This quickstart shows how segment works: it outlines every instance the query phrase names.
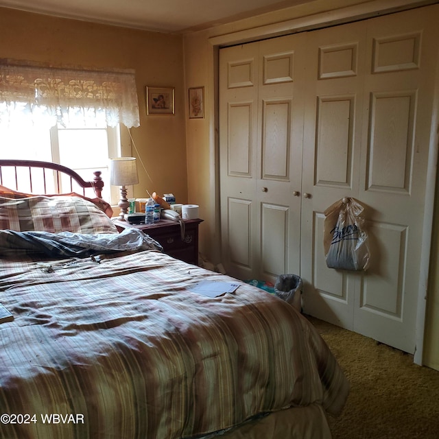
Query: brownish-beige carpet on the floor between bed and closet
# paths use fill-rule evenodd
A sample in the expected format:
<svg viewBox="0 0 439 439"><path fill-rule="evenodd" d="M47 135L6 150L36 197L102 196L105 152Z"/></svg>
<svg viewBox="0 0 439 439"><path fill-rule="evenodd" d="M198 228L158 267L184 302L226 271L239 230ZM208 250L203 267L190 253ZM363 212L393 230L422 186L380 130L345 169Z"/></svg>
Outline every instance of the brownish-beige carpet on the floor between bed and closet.
<svg viewBox="0 0 439 439"><path fill-rule="evenodd" d="M351 383L342 414L329 418L333 439L439 438L438 371L368 337L309 320Z"/></svg>

